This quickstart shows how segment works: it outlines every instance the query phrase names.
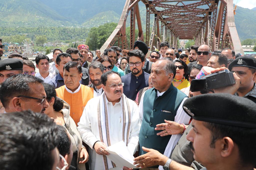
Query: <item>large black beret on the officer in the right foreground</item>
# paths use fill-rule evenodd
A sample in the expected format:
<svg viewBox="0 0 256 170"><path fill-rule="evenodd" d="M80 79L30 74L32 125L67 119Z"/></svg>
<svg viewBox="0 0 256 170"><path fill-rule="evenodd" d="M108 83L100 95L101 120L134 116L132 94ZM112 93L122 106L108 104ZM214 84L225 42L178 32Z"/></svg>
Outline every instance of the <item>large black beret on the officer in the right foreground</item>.
<svg viewBox="0 0 256 170"><path fill-rule="evenodd" d="M203 94L188 98L184 111L198 121L256 128L256 104L227 93Z"/></svg>

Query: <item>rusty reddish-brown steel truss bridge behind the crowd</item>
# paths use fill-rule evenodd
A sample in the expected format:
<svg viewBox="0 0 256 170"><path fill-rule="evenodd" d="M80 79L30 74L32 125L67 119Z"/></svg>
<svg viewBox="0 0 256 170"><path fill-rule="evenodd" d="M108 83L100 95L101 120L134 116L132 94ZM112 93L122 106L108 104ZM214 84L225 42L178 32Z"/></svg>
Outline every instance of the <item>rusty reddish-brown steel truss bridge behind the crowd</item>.
<svg viewBox="0 0 256 170"><path fill-rule="evenodd" d="M138 5L140 1L146 7L145 37ZM233 10L233 0L126 0L118 25L100 51L114 44L122 49L133 49L136 40L144 41L151 49L153 46L159 49L161 42L168 41L177 49L178 40L193 39L195 45L207 44L211 51L230 47L236 54L243 54ZM151 14L154 17L150 17ZM127 41L125 28L128 16L130 42ZM150 25L152 19L153 26ZM135 21L138 37L135 37Z"/></svg>

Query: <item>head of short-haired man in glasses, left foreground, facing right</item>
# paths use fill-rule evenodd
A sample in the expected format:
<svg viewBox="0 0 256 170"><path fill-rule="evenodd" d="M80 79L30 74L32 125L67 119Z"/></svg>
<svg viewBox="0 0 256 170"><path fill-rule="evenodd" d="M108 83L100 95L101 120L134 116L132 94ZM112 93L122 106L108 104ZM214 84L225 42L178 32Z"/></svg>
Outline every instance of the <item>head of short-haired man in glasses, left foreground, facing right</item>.
<svg viewBox="0 0 256 170"><path fill-rule="evenodd" d="M28 74L16 74L6 79L0 87L0 99L5 112L32 110L44 113L49 104L45 100L42 83L38 77Z"/></svg>

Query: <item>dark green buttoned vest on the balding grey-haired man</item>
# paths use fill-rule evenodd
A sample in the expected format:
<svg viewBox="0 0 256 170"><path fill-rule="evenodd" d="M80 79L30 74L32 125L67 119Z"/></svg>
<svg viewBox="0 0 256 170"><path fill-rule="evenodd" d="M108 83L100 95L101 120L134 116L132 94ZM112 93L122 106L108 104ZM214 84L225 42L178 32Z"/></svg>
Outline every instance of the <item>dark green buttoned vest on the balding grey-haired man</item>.
<svg viewBox="0 0 256 170"><path fill-rule="evenodd" d="M164 154L164 150L170 140L171 135L156 135L162 130L155 130L157 124L165 123L164 120L174 121L176 112L187 97L182 91L175 88L172 84L162 96L157 97L155 88L148 89L143 98L143 121L139 135L139 154L147 152L142 147L155 149Z"/></svg>

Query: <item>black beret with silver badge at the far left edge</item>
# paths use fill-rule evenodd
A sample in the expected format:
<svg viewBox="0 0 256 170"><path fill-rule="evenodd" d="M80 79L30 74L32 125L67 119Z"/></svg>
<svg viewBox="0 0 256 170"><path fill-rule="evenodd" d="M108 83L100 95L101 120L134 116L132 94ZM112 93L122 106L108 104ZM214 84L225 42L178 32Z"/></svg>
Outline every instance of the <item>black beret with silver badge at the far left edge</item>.
<svg viewBox="0 0 256 170"><path fill-rule="evenodd" d="M0 70L23 70L23 61L17 58L0 60Z"/></svg>

